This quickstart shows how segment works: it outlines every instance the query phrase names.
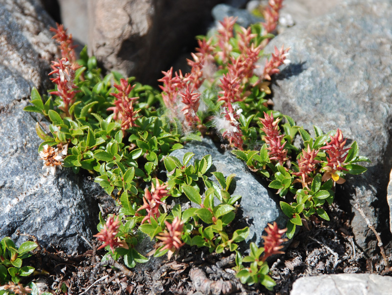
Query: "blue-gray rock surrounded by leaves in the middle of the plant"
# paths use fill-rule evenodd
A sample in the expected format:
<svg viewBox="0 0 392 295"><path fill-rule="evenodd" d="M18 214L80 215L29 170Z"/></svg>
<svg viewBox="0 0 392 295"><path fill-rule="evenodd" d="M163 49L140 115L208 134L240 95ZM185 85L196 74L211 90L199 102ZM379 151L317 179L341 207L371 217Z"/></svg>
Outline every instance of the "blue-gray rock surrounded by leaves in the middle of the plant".
<svg viewBox="0 0 392 295"><path fill-rule="evenodd" d="M249 171L243 161L237 159L230 152L226 151L222 154L210 138L203 138L202 142L191 141L183 149L173 151L170 156L177 157L182 161L187 152L195 153L193 159L201 159L205 155L211 155L213 165L208 170L209 173L219 171L225 177L232 173L236 175L233 181L235 188L232 195L241 195L242 198L240 200L241 207L237 213L240 219L236 217L235 227L249 226L249 236L245 240L246 243L253 241L260 246L261 235L267 223L276 221L280 228L285 227L286 219L276 204L275 195ZM208 172L207 176L209 176ZM217 182L213 175L209 176L209 179Z"/></svg>

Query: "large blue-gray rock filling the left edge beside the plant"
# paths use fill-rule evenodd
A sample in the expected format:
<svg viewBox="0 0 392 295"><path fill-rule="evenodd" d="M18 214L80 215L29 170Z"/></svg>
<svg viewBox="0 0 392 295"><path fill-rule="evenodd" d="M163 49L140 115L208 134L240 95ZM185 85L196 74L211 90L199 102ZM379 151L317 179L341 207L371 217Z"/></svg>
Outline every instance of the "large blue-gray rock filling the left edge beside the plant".
<svg viewBox="0 0 392 295"><path fill-rule="evenodd" d="M57 52L53 25L38 0L0 5L0 239L10 236L20 244L26 240L16 235L20 231L71 253L85 247L80 236L92 238L96 206L70 171L43 176L37 153L42 140L35 133L43 118L23 111L33 86L44 91L50 85Z"/></svg>

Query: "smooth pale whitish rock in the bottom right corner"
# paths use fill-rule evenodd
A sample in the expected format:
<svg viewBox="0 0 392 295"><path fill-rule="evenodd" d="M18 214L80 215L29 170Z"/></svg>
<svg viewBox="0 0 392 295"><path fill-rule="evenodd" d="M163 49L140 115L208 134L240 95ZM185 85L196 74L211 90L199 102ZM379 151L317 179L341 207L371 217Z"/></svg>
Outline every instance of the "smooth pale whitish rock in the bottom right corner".
<svg viewBox="0 0 392 295"><path fill-rule="evenodd" d="M290 295L389 295L392 278L368 273L340 273L297 279Z"/></svg>

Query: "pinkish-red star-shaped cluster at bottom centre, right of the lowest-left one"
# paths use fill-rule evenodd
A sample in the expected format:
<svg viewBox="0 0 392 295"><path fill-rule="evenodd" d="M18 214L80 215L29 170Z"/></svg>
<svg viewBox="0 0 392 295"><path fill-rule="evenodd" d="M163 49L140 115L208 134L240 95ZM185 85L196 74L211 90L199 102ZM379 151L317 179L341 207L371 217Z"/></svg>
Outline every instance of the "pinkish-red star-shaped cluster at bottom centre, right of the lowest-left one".
<svg viewBox="0 0 392 295"><path fill-rule="evenodd" d="M181 248L184 245L184 242L180 240L182 234L182 228L184 227L184 223L175 216L172 224L165 220L166 228L163 233L160 233L156 238L162 241L160 244L163 244L164 247L161 251L168 249L168 259L172 257L172 254Z"/></svg>

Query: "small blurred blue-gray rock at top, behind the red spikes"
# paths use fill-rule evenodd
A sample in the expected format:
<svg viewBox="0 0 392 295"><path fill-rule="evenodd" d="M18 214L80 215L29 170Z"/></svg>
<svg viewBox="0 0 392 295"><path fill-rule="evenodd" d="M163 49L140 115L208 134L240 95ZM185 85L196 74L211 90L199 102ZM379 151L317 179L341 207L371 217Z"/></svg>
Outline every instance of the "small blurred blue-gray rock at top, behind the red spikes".
<svg viewBox="0 0 392 295"><path fill-rule="evenodd" d="M234 8L227 4L218 4L212 9L215 21L223 21L225 17L237 17L237 24L242 27L249 27L250 24L262 22L263 19L252 15L246 9Z"/></svg>

